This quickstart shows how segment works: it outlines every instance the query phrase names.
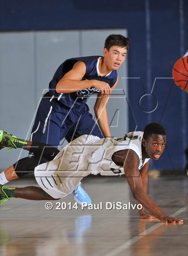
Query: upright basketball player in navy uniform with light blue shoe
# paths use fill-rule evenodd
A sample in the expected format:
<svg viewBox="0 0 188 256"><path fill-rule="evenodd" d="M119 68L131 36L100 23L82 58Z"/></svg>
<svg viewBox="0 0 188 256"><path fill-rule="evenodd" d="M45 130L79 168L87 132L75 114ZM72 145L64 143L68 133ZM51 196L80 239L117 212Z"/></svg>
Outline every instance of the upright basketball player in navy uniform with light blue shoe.
<svg viewBox="0 0 188 256"><path fill-rule="evenodd" d="M30 140L57 147L63 138L70 142L85 134L111 137L106 104L118 83L117 69L124 63L128 43L129 38L110 35L105 40L103 57L65 60L56 70L49 92L41 99ZM98 94L94 112L101 131L86 104L92 94ZM28 173L15 171L18 175L10 180ZM91 202L81 183L73 193L77 202Z"/></svg>

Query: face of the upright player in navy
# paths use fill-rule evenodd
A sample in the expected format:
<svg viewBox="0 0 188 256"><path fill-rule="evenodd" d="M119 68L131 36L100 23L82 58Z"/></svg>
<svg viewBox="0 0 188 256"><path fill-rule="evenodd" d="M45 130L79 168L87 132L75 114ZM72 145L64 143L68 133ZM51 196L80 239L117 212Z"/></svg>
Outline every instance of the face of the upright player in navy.
<svg viewBox="0 0 188 256"><path fill-rule="evenodd" d="M117 70L122 63L124 63L127 49L125 47L121 48L120 46L114 45L109 49L109 51L104 48L103 53L108 68L111 70Z"/></svg>

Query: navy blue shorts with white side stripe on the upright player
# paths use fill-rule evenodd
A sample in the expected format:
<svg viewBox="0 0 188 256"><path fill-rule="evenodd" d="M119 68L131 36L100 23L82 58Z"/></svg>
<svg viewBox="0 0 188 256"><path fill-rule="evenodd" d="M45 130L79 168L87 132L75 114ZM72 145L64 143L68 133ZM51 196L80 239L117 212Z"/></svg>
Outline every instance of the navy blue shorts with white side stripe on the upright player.
<svg viewBox="0 0 188 256"><path fill-rule="evenodd" d="M60 104L60 108L56 107L56 104ZM86 103L80 108L68 108L48 93L44 95L31 131L31 141L57 147L63 138L70 142L85 134L103 138Z"/></svg>

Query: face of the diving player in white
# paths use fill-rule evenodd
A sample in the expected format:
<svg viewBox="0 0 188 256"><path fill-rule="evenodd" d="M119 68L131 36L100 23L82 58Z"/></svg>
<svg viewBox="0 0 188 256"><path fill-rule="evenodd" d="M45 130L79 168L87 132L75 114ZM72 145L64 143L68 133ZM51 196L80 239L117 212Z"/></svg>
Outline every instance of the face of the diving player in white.
<svg viewBox="0 0 188 256"><path fill-rule="evenodd" d="M152 134L148 139L143 139L142 144L148 157L158 160L165 149L166 141L166 135Z"/></svg>

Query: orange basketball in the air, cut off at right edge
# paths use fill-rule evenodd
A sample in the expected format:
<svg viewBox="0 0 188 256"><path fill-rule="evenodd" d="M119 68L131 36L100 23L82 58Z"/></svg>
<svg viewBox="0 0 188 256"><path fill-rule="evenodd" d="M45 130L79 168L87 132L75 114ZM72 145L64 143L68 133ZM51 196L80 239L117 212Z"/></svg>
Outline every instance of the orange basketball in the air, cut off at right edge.
<svg viewBox="0 0 188 256"><path fill-rule="evenodd" d="M172 69L172 76L176 85L188 91L188 56L179 58Z"/></svg>

